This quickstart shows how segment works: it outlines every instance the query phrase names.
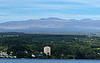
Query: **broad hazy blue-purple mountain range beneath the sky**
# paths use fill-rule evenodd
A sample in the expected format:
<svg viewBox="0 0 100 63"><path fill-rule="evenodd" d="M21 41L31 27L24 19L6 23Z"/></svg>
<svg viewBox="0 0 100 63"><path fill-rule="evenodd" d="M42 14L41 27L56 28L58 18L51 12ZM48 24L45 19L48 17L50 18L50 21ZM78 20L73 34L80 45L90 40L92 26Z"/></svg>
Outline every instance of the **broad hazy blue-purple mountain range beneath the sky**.
<svg viewBox="0 0 100 63"><path fill-rule="evenodd" d="M100 20L41 18L0 23L0 32L66 33L100 32Z"/></svg>

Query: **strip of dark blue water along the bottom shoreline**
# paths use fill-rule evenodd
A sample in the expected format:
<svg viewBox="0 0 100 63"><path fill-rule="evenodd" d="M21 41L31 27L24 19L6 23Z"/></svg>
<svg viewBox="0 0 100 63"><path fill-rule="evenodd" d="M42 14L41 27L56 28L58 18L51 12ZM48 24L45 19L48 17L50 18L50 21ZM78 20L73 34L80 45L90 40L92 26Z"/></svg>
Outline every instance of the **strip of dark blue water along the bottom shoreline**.
<svg viewBox="0 0 100 63"><path fill-rule="evenodd" d="M100 63L100 60L74 59L0 59L0 63Z"/></svg>

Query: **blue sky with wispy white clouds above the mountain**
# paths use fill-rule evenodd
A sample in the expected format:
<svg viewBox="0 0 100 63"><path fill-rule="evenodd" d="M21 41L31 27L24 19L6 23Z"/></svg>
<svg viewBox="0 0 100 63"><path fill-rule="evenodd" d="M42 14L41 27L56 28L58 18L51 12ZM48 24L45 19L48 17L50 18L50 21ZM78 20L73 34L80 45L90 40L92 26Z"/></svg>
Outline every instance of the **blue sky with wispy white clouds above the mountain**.
<svg viewBox="0 0 100 63"><path fill-rule="evenodd" d="M48 17L100 20L100 0L0 0L0 23Z"/></svg>

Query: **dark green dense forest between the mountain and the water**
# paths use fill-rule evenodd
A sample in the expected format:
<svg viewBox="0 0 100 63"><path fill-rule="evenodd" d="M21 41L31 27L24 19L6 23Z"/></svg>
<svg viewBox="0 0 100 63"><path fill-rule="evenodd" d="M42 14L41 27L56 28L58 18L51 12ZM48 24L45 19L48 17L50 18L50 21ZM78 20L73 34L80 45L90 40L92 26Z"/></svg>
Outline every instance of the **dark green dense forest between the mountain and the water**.
<svg viewBox="0 0 100 63"><path fill-rule="evenodd" d="M51 56L43 53L51 47ZM0 51L17 58L100 59L100 37L70 34L0 33ZM41 55L40 55L41 54Z"/></svg>

